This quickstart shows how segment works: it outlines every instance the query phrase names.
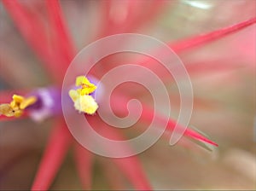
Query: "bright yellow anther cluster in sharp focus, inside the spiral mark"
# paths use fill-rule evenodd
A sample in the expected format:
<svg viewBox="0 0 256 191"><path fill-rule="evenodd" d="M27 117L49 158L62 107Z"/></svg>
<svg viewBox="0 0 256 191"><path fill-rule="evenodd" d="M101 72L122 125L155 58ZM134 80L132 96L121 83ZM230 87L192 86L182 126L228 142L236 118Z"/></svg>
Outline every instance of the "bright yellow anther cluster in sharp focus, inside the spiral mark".
<svg viewBox="0 0 256 191"><path fill-rule="evenodd" d="M96 90L96 85L91 84L84 76L76 78L76 86L81 86L78 90L69 90L68 94L74 102L74 107L80 113L94 114L98 104L91 94Z"/></svg>

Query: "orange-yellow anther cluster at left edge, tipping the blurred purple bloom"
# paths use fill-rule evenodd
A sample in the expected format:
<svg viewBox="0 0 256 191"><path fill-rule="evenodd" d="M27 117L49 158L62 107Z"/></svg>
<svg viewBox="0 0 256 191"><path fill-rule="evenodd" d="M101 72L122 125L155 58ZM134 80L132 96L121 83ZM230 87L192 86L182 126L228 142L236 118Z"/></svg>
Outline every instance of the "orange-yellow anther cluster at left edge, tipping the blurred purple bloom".
<svg viewBox="0 0 256 191"><path fill-rule="evenodd" d="M31 106L36 101L37 98L35 96L25 98L23 96L14 95L13 101L11 101L9 104L4 103L0 105L0 114L5 115L6 117L15 116L18 118L22 115L23 110L26 109L26 107Z"/></svg>

